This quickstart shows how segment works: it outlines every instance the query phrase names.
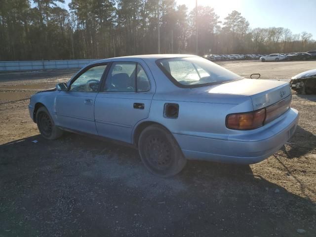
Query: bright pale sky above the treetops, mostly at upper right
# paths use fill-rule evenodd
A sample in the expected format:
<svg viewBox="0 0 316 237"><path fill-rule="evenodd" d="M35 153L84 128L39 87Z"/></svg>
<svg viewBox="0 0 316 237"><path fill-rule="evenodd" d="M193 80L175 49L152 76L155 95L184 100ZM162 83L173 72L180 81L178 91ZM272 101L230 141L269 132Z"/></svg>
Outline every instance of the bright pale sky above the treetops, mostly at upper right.
<svg viewBox="0 0 316 237"><path fill-rule="evenodd" d="M65 0L65 4L60 5L69 9L70 1ZM196 0L176 1L186 4L189 10L196 4ZM213 7L220 20L237 10L249 21L251 28L284 27L293 34L306 31L316 39L316 0L197 0L197 4Z"/></svg>

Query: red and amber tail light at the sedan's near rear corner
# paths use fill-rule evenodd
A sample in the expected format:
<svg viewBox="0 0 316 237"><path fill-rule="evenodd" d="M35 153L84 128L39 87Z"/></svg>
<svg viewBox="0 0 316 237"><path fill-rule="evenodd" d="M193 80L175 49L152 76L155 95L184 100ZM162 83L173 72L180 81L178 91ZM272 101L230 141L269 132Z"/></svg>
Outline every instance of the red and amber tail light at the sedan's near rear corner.
<svg viewBox="0 0 316 237"><path fill-rule="evenodd" d="M250 130L261 127L266 118L266 109L248 113L230 114L226 117L226 126L236 130Z"/></svg>

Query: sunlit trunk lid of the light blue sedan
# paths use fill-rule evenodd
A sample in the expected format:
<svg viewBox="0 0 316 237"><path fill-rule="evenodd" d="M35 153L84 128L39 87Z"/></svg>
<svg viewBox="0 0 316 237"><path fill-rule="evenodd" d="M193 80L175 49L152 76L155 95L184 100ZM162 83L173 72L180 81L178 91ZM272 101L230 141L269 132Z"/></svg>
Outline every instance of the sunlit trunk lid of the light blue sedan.
<svg viewBox="0 0 316 237"><path fill-rule="evenodd" d="M288 82L278 80L241 79L212 86L209 93L249 96L253 110L273 105L291 94Z"/></svg>

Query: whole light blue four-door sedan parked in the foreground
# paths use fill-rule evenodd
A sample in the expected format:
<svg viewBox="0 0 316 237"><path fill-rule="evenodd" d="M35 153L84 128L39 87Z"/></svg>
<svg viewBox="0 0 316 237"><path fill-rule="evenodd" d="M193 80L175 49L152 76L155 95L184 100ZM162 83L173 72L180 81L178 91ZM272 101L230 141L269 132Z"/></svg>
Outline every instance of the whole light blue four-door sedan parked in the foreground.
<svg viewBox="0 0 316 237"><path fill-rule="evenodd" d="M187 159L251 164L293 135L298 112L287 82L244 79L194 55L96 61L68 83L31 97L30 116L47 139L74 131L139 150L159 176Z"/></svg>

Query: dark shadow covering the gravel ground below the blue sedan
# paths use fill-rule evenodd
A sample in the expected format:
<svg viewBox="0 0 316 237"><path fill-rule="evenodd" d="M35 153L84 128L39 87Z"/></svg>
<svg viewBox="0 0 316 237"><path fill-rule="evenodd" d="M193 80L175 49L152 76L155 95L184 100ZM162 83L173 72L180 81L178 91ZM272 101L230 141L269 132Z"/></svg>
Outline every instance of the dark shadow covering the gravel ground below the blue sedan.
<svg viewBox="0 0 316 237"><path fill-rule="evenodd" d="M159 178L137 150L76 134L1 145L0 180L0 236L316 234L313 202L249 165L188 161Z"/></svg>

